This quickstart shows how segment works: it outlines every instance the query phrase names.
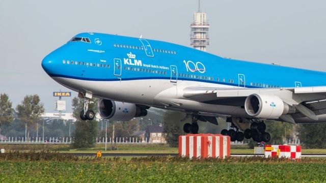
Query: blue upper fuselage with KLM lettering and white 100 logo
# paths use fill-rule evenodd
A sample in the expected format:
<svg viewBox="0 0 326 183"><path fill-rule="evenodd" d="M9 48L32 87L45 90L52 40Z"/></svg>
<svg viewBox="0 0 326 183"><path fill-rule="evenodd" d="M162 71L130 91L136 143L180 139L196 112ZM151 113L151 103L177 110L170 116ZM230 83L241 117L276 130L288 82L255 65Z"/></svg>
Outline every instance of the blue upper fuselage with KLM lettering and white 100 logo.
<svg viewBox="0 0 326 183"><path fill-rule="evenodd" d="M177 44L117 35L82 33L47 55L51 77L88 81L165 79L240 87L326 85L326 73L223 58ZM307 60L309 61L309 60Z"/></svg>

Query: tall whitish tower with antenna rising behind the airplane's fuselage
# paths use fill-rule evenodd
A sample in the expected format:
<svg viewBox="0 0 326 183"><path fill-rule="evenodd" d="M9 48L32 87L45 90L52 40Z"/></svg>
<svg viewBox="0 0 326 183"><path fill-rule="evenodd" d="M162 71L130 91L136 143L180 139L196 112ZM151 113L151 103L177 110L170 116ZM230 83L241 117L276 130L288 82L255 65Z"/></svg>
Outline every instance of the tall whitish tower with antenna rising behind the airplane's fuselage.
<svg viewBox="0 0 326 183"><path fill-rule="evenodd" d="M195 49L206 51L206 47L209 45L209 24L207 21L206 13L200 12L200 1L198 12L194 13L194 22L190 25L190 27L190 45L193 46Z"/></svg>

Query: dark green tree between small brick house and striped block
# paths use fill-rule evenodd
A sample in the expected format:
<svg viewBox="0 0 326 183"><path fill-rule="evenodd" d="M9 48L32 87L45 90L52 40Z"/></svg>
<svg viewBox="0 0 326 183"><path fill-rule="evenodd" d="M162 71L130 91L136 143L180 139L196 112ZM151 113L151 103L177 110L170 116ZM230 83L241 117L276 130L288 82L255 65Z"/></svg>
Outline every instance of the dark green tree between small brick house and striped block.
<svg viewBox="0 0 326 183"><path fill-rule="evenodd" d="M184 118L184 114L180 112L167 111L164 117L164 137L167 143L171 147L177 147L179 136L183 135L183 129L181 119Z"/></svg>

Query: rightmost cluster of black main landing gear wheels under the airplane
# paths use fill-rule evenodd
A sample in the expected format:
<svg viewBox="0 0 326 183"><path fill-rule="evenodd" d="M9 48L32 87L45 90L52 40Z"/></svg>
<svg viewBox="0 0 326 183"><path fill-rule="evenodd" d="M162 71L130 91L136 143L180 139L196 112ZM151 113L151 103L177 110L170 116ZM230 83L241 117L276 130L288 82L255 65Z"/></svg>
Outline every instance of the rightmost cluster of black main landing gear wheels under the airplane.
<svg viewBox="0 0 326 183"><path fill-rule="evenodd" d="M265 132L266 125L264 121L253 121L250 125L250 129L244 131L244 137L247 139L253 138L256 142L269 142L270 141L270 134Z"/></svg>

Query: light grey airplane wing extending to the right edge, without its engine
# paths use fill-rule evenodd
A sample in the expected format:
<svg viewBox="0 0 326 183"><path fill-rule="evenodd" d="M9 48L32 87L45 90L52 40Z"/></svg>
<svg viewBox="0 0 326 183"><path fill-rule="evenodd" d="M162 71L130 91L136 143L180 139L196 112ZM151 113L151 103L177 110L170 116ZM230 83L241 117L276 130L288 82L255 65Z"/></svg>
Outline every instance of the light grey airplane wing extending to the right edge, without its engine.
<svg viewBox="0 0 326 183"><path fill-rule="evenodd" d="M213 88L187 87L183 97L214 105L244 106L246 98L253 94L277 96L296 112L280 118L289 123L326 122L326 86L292 88Z"/></svg>

